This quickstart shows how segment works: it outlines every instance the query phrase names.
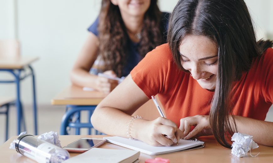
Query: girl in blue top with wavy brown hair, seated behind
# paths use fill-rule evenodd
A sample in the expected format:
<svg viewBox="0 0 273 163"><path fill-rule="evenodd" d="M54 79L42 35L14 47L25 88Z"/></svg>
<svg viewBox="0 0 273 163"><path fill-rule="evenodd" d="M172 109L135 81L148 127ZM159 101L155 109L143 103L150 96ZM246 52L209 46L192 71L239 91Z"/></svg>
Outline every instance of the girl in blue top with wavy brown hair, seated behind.
<svg viewBox="0 0 273 163"><path fill-rule="evenodd" d="M106 94L117 81L89 73L95 60L112 77L127 76L147 52L166 42L169 13L160 12L157 0L102 0L99 17L71 71L71 81Z"/></svg>

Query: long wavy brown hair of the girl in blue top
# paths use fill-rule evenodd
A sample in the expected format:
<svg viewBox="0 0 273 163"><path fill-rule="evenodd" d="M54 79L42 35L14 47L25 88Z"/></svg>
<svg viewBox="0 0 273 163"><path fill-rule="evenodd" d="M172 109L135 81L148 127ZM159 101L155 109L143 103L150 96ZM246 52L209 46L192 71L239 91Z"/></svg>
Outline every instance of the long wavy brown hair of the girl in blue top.
<svg viewBox="0 0 273 163"><path fill-rule="evenodd" d="M162 13L158 8L157 0L151 0L150 7L144 15L144 25L137 50L142 57L156 46L166 42L163 39L161 18ZM104 60L105 70L113 70L119 77L126 65L130 48L128 44L130 39L126 31L119 7L112 4L110 0L102 0L98 25L99 55Z"/></svg>

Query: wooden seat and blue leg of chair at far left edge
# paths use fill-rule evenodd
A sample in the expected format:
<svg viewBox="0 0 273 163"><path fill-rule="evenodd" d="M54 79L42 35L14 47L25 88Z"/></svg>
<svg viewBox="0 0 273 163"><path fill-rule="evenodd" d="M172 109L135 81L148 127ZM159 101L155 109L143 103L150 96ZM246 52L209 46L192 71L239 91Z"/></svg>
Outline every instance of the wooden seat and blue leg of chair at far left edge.
<svg viewBox="0 0 273 163"><path fill-rule="evenodd" d="M9 111L9 106L14 104L14 103L15 103L15 99L12 98L12 97L0 97L0 114L5 114L6 115L6 140L5 141L8 140L8 111Z"/></svg>

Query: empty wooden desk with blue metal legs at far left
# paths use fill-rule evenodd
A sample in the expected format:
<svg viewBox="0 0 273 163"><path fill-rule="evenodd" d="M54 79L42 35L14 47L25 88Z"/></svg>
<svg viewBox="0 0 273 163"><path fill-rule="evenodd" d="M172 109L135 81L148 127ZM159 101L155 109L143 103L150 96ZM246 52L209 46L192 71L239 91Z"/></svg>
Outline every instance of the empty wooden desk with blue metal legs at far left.
<svg viewBox="0 0 273 163"><path fill-rule="evenodd" d="M17 133L21 133L21 123L24 125L23 117L23 107L20 100L20 81L27 76L32 76L32 86L33 86L33 114L34 114L34 132L37 134L37 106L36 106L36 93L35 93L35 75L33 68L30 64L39 57L31 56L0 56L0 71L6 71L11 73L14 76L14 80L1 80L0 83L15 83L16 84L16 107L17 107ZM21 76L21 71L24 71L26 68L29 68L30 73L24 74Z"/></svg>

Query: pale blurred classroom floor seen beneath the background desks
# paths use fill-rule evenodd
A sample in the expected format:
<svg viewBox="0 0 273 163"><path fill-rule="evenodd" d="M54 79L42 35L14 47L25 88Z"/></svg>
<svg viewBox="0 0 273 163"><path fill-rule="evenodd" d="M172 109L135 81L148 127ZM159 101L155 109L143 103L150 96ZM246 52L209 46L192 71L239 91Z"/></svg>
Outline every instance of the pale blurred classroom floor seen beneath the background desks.
<svg viewBox="0 0 273 163"><path fill-rule="evenodd" d="M32 106L24 106L24 110L27 134L34 134ZM40 135L50 131L59 133L60 124L64 113L64 106L38 106L38 134ZM84 112L81 114L83 120L82 122L87 122L87 116L84 116L84 114ZM17 135L16 115L16 108L11 107L9 112L9 137ZM5 120L5 116L0 114L0 145L5 142ZM273 105L267 113L265 120L273 122ZM82 129L81 134L86 135L87 129Z"/></svg>

